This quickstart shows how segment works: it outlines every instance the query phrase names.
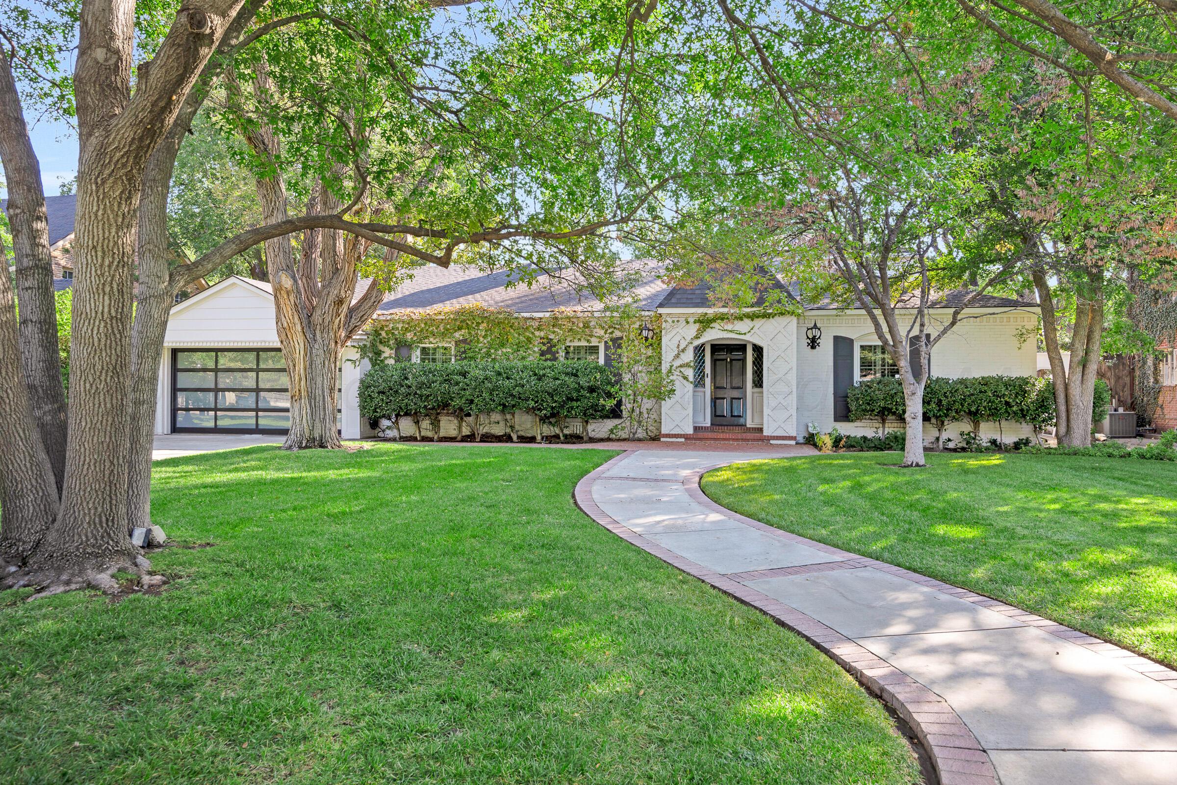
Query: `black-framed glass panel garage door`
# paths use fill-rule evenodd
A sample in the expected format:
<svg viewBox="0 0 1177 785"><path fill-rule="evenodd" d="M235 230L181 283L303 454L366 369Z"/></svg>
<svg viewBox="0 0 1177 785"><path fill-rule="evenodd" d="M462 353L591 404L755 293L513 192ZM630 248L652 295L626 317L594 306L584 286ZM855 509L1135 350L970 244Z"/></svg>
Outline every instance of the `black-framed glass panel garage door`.
<svg viewBox="0 0 1177 785"><path fill-rule="evenodd" d="M279 350L175 350L172 430L286 433L290 384Z"/></svg>

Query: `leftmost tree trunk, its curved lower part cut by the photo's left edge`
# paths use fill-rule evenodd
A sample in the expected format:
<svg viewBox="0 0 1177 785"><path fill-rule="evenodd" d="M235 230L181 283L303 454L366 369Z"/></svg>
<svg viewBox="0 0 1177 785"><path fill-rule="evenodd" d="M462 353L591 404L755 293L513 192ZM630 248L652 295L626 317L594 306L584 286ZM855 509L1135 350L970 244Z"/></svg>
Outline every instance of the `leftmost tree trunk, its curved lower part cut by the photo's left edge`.
<svg viewBox="0 0 1177 785"><path fill-rule="evenodd" d="M7 271L0 271L0 578L24 564L58 514L53 467L25 387L14 306Z"/></svg>

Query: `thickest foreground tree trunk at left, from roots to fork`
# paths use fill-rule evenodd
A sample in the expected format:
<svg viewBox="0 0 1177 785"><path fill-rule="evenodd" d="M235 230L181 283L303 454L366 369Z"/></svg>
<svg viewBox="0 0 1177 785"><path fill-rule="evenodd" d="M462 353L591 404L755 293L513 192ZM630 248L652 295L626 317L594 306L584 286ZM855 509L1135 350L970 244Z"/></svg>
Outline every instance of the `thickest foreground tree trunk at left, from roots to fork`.
<svg viewBox="0 0 1177 785"><path fill-rule="evenodd" d="M146 563L127 535L131 286L139 172L118 151L127 140L94 140L81 157L74 244L73 333L65 487L56 524L29 559L58 588L113 588L115 570ZM140 169L141 171L141 169ZM52 576L52 578L49 578Z"/></svg>

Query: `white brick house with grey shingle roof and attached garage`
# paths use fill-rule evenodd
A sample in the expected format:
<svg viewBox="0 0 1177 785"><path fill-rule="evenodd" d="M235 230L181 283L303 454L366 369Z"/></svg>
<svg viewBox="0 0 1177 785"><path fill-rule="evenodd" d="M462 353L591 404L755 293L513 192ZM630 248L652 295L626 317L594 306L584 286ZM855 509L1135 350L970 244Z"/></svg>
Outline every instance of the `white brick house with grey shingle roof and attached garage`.
<svg viewBox="0 0 1177 785"><path fill-rule="evenodd" d="M385 298L375 318L472 302L537 318L557 308L603 307L592 297L544 278L532 287L508 282L506 273L423 267ZM780 284L779 288L789 292L790 287ZM790 295L796 299L796 291ZM945 295L940 302L945 307L933 311L933 320L947 318L960 297L959 292ZM844 433L875 432L876 425L845 417L850 385L893 373L862 311L839 311L826 302L805 306L802 315L742 319L733 314L730 321L700 330L699 318L716 313L706 290L667 286L654 271L645 275L633 299L643 311L661 317L663 361L679 370L673 394L661 404L664 439L739 434L746 440L787 444L803 439L811 423L823 432L833 427ZM995 297L977 305L932 350L932 374L1033 375L1037 306ZM812 348L806 331L814 337L820 333ZM232 277L177 305L161 359L157 432L281 433L282 404L288 398L278 350L268 284ZM445 347L424 350L445 353ZM414 350L414 359L420 352ZM367 368L346 361L357 354L354 347L346 350L340 372L340 431L348 439L372 434L357 403L359 380ZM580 347L577 354L605 364L611 359L607 340ZM989 430L983 435L990 435ZM991 430L996 435L996 427ZM1024 434L1029 431L1020 426L1006 424L1004 428L1006 438ZM925 435L935 435L931 426Z"/></svg>

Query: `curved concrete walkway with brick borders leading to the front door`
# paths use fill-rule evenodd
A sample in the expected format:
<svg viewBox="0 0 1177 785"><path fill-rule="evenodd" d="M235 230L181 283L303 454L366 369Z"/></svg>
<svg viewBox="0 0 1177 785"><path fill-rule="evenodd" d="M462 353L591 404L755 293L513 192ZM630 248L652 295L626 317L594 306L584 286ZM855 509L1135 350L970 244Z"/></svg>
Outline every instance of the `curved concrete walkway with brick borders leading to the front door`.
<svg viewBox="0 0 1177 785"><path fill-rule="evenodd" d="M799 451L798 451L799 453ZM630 451L577 485L614 534L797 632L911 723L943 785L1177 781L1177 672L1020 608L739 515Z"/></svg>

